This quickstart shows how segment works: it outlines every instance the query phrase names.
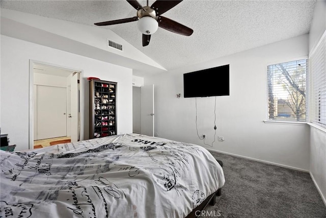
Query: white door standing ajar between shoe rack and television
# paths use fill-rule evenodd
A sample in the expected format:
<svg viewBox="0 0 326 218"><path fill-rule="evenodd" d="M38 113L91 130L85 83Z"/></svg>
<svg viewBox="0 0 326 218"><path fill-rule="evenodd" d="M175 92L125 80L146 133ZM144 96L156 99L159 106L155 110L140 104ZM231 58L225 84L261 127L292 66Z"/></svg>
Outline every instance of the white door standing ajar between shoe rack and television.
<svg viewBox="0 0 326 218"><path fill-rule="evenodd" d="M154 85L141 88L141 134L154 136Z"/></svg>

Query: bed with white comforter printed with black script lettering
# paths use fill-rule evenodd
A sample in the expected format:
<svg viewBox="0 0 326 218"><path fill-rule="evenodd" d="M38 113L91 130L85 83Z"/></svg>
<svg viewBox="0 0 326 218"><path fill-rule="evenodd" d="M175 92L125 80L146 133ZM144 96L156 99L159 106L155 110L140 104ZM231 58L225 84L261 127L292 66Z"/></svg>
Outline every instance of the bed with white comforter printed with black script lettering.
<svg viewBox="0 0 326 218"><path fill-rule="evenodd" d="M0 217L186 217L225 182L205 148L139 134L0 154Z"/></svg>

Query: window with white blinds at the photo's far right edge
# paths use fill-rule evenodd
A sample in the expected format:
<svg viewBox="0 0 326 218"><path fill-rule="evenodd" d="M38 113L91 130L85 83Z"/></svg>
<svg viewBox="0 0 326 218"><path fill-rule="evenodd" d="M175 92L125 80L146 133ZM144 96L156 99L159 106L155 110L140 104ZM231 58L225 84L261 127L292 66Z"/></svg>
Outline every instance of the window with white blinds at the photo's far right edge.
<svg viewBox="0 0 326 218"><path fill-rule="evenodd" d="M326 128L326 32L310 55L310 122Z"/></svg>

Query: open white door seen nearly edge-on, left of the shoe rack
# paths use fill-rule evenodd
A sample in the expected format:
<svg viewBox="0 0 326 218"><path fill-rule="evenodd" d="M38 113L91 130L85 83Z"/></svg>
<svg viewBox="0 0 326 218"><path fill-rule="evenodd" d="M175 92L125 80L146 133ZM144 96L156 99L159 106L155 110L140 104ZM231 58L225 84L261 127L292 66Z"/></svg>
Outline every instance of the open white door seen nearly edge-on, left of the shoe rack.
<svg viewBox="0 0 326 218"><path fill-rule="evenodd" d="M70 119L70 138L71 142L76 142L79 139L79 85L78 72L74 72L70 83L70 111L68 111L68 119ZM68 107L69 108L69 107Z"/></svg>

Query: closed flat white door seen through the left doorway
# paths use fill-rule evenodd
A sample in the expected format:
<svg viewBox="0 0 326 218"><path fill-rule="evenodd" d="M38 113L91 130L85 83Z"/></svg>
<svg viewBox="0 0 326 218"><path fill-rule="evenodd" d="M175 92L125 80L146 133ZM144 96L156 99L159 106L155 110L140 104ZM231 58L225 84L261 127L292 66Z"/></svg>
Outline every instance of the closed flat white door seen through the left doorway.
<svg viewBox="0 0 326 218"><path fill-rule="evenodd" d="M66 88L37 86L37 139L67 135Z"/></svg>

